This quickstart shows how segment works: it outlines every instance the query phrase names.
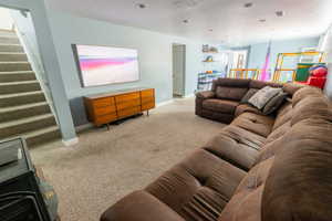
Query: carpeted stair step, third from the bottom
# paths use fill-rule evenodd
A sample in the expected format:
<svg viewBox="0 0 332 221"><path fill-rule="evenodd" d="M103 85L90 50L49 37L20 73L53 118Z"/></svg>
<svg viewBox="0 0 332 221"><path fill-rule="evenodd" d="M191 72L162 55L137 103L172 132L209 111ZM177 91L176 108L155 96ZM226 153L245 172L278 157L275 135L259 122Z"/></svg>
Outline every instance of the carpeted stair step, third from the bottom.
<svg viewBox="0 0 332 221"><path fill-rule="evenodd" d="M51 113L51 109L46 102L0 108L0 124L49 113Z"/></svg>

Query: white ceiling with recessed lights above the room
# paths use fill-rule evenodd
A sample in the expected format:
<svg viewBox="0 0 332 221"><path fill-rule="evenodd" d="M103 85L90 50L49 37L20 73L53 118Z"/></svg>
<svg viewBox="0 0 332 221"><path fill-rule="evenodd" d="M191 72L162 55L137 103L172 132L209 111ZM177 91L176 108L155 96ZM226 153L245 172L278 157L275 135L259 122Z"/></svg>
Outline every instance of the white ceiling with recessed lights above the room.
<svg viewBox="0 0 332 221"><path fill-rule="evenodd" d="M239 46L317 36L332 0L46 0L55 10L163 33ZM245 8L252 2L251 8ZM139 3L146 8L141 9ZM277 17L276 11L284 11ZM188 22L183 22L187 20ZM260 22L259 20L266 20Z"/></svg>

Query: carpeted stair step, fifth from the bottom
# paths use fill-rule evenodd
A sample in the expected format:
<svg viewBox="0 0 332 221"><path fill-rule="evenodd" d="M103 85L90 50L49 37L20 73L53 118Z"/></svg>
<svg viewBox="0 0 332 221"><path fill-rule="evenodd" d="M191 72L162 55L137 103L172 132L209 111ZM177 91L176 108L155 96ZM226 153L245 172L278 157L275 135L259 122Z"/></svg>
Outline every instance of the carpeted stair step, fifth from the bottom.
<svg viewBox="0 0 332 221"><path fill-rule="evenodd" d="M0 94L15 94L41 91L38 81L0 83Z"/></svg>

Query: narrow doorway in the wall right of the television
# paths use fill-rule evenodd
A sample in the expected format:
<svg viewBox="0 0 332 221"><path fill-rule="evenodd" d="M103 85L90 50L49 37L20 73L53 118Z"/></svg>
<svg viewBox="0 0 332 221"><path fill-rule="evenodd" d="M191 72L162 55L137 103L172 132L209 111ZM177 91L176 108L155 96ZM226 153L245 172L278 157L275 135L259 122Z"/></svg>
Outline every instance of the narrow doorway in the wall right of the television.
<svg viewBox="0 0 332 221"><path fill-rule="evenodd" d="M173 44L173 97L185 95L186 45Z"/></svg>

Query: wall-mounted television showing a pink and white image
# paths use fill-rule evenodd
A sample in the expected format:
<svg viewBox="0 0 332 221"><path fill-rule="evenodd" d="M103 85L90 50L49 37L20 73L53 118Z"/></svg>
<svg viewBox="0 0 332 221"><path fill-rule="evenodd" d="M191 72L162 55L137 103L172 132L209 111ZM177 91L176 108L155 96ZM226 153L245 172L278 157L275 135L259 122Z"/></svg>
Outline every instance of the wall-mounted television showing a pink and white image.
<svg viewBox="0 0 332 221"><path fill-rule="evenodd" d="M139 80L135 49L73 44L83 87Z"/></svg>

